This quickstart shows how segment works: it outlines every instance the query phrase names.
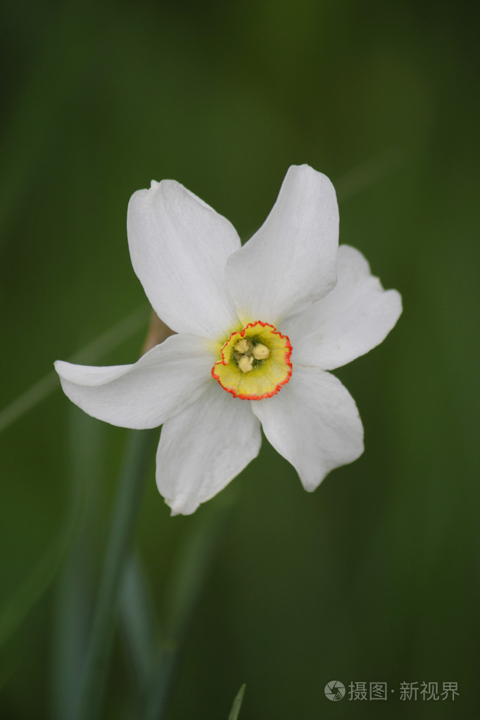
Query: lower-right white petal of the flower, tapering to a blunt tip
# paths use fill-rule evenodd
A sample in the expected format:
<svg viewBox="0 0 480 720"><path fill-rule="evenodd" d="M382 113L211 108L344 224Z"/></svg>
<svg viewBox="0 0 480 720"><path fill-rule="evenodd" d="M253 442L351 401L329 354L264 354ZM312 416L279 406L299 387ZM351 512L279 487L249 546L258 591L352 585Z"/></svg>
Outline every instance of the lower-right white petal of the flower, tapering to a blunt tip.
<svg viewBox="0 0 480 720"><path fill-rule="evenodd" d="M348 390L330 373L294 366L289 384L252 402L273 447L295 467L311 492L334 467L363 452L363 428Z"/></svg>

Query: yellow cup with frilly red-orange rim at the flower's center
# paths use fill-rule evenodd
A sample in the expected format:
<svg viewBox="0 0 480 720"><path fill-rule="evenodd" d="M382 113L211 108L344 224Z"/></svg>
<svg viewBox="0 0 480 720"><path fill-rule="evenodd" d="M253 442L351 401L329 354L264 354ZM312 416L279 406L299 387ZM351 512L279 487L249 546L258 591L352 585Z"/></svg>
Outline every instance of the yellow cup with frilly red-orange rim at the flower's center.
<svg viewBox="0 0 480 720"><path fill-rule="evenodd" d="M271 397L291 377L289 338L260 320L232 333L221 355L212 367L212 377L241 400Z"/></svg>

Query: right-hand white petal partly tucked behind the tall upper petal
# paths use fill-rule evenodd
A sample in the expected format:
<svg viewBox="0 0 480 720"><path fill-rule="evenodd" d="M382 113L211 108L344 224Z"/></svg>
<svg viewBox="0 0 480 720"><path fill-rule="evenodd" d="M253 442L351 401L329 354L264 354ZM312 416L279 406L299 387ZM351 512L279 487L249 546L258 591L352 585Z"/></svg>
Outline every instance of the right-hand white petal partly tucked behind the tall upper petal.
<svg viewBox="0 0 480 720"><path fill-rule="evenodd" d="M292 359L332 370L379 345L402 313L397 290L384 290L355 248L338 248L335 288L312 307L287 318L281 332L289 336Z"/></svg>

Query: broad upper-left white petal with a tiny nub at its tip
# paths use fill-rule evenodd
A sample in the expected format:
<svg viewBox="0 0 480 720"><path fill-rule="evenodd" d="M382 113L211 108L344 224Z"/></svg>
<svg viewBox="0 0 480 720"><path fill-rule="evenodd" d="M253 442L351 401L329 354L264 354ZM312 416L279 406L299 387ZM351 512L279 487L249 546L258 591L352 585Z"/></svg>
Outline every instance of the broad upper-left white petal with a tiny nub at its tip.
<svg viewBox="0 0 480 720"><path fill-rule="evenodd" d="M240 248L233 225L173 180L130 198L133 268L158 317L178 333L224 341L237 324L225 287L227 257Z"/></svg>

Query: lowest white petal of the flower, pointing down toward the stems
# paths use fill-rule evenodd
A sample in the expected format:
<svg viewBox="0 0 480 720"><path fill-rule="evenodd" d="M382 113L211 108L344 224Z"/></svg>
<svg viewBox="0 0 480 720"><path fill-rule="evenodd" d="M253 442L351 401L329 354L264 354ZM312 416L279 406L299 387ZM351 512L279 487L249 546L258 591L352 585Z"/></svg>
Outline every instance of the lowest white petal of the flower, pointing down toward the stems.
<svg viewBox="0 0 480 720"><path fill-rule="evenodd" d="M157 485L173 515L190 515L223 490L261 446L250 402L214 383L199 400L168 420L157 454Z"/></svg>

